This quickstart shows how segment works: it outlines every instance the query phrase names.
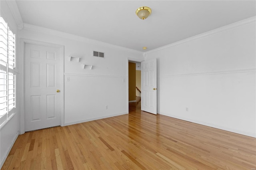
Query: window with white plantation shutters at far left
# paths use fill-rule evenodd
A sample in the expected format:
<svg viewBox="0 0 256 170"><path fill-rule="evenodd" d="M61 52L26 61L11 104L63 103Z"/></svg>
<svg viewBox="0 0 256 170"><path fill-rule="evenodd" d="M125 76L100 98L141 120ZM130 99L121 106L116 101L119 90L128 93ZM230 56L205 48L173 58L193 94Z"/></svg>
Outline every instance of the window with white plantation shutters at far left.
<svg viewBox="0 0 256 170"><path fill-rule="evenodd" d="M0 125L14 114L15 108L15 34L0 17Z"/></svg>

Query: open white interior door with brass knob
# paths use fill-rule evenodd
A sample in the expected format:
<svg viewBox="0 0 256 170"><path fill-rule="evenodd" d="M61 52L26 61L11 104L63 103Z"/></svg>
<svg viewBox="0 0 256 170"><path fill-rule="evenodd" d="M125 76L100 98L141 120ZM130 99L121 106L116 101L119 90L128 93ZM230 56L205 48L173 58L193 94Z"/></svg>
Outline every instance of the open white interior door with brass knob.
<svg viewBox="0 0 256 170"><path fill-rule="evenodd" d="M142 94L141 110L157 113L157 88L156 88L156 59L142 62Z"/></svg>

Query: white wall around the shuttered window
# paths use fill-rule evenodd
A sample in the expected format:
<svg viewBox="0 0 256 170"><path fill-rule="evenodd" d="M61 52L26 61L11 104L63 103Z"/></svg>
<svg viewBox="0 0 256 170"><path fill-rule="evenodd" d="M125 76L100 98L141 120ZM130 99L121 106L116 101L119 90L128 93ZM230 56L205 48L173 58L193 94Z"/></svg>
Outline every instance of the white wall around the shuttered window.
<svg viewBox="0 0 256 170"><path fill-rule="evenodd" d="M5 0L1 0L0 2L0 16L4 18L6 22L8 22L8 26L14 34L16 34L16 38L18 37L18 29L17 24L12 16L12 13L10 12L10 8ZM18 38L17 38L18 39ZM16 39L16 40L17 40ZM16 41L16 48L18 47L18 41ZM18 58L18 55L16 55L16 58ZM16 68L18 70L18 68ZM19 83L18 81L18 74L16 74L16 84ZM17 87L17 86L16 86ZM17 92L17 91L16 91ZM8 156L8 153L10 152L10 149L12 148L12 145L14 144L16 138L18 137L18 131L19 131L19 113L17 110L18 107L18 95L16 95L16 114L0 129L0 167L2 167L2 164L6 160L6 157Z"/></svg>

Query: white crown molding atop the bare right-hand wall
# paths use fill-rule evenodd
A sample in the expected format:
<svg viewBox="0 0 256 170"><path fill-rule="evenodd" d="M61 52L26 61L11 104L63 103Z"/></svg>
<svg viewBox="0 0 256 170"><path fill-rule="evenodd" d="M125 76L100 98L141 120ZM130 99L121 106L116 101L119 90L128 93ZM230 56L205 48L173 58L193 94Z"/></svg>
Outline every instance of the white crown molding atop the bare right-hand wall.
<svg viewBox="0 0 256 170"><path fill-rule="evenodd" d="M174 43L171 43L171 44L168 44L168 45L164 45L162 47L159 47L159 48L156 48L156 49L152 49L152 50L147 51L145 53L147 55L147 54L152 53L152 52L160 51L162 49L170 48L170 47L173 47L175 45L182 44L182 43L198 40L200 38L212 36L214 34L219 34L221 32L232 30L234 28L238 28L240 26L245 26L247 24L251 24L251 23L254 23L254 22L256 22L256 16L253 16L253 17L250 17L250 18L247 18L245 20L238 21L238 22L234 22L232 24L229 24L229 25L226 25L226 26L223 26L223 27L220 27L220 28L216 28L214 30L211 30L211 31L208 31L208 32L205 32L205 33L202 33L202 34L198 34L196 36L193 36L193 37L190 37L190 38L186 38L186 39L180 40L178 42L174 42Z"/></svg>

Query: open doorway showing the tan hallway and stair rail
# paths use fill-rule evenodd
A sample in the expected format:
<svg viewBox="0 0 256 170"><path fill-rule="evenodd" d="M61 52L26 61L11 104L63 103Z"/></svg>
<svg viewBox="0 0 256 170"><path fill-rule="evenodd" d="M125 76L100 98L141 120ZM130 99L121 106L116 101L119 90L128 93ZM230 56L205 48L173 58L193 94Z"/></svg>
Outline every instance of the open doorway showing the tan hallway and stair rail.
<svg viewBox="0 0 256 170"><path fill-rule="evenodd" d="M141 62L128 61L129 113L141 111Z"/></svg>

